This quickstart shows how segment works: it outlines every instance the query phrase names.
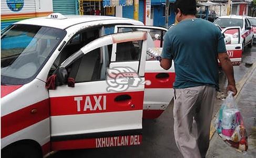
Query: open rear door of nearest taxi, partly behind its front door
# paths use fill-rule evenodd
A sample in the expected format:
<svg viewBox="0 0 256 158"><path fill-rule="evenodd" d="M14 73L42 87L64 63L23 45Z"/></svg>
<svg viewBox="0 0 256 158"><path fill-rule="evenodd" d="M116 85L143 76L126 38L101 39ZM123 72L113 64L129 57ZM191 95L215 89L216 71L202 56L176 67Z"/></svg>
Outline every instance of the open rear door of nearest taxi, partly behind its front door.
<svg viewBox="0 0 256 158"><path fill-rule="evenodd" d="M115 26L115 32L126 31L147 31L147 57L145 67L145 96L143 118L155 119L167 108L173 98L173 82L175 81L174 64L169 70L164 70L156 58L152 54L161 54L163 36L168 30L163 27L155 26L134 26L134 25L118 25ZM113 57L112 60L116 60ZM173 63L173 62L172 62Z"/></svg>

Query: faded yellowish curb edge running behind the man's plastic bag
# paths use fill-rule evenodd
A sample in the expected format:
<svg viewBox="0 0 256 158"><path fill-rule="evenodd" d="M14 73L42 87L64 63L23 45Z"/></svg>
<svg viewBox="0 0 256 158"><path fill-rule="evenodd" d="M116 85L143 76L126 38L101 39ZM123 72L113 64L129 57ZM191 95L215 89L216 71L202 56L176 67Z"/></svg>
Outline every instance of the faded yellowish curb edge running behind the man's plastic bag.
<svg viewBox="0 0 256 158"><path fill-rule="evenodd" d="M254 72L255 69L256 69L256 62L253 63L252 68L247 73L244 74L244 76L241 78L241 80L237 84L235 84L235 86L237 87L237 95L234 97L235 100L240 99L240 92L241 92L244 84L251 77L251 74ZM218 114L219 114L219 110L211 120L210 138L209 138L210 140L212 139L213 134L216 132L216 129L214 127L214 121L216 120L216 117L217 117Z"/></svg>

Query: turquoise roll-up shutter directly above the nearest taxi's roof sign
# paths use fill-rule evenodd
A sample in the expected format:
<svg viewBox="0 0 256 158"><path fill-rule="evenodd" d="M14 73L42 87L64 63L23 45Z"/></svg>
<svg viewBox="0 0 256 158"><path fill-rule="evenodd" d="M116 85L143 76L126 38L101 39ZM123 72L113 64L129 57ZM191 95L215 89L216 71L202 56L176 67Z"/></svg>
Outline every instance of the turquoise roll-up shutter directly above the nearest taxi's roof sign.
<svg viewBox="0 0 256 158"><path fill-rule="evenodd" d="M76 15L75 0L53 0L53 12L63 15Z"/></svg>

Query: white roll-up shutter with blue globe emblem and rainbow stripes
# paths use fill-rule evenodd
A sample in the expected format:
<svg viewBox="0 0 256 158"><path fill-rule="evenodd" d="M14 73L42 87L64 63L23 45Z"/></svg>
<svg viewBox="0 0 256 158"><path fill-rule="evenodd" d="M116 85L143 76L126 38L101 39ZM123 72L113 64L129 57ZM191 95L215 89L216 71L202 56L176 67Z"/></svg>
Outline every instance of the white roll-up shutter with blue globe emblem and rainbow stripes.
<svg viewBox="0 0 256 158"><path fill-rule="evenodd" d="M35 0L1 0L1 29L4 29L14 22L33 17L36 17Z"/></svg>

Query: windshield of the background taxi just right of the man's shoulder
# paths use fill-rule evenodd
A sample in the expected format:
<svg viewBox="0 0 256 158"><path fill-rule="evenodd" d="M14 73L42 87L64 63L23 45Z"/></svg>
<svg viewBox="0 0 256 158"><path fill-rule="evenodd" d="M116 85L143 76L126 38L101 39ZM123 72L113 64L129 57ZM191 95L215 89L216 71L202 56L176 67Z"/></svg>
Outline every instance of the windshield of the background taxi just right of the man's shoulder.
<svg viewBox="0 0 256 158"><path fill-rule="evenodd" d="M216 21L214 21L214 24L219 25L221 28L232 27L232 26L240 26L240 28L243 28L242 19L218 18Z"/></svg>

